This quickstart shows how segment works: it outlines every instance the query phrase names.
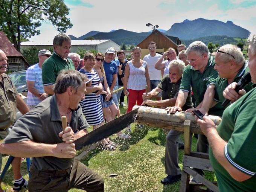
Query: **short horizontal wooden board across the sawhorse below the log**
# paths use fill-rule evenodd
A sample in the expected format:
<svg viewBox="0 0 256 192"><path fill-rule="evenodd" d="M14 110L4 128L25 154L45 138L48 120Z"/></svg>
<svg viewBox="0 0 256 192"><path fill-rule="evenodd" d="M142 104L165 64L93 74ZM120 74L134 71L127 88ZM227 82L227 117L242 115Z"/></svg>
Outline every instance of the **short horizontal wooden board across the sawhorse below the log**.
<svg viewBox="0 0 256 192"><path fill-rule="evenodd" d="M183 166L214 171L209 159L191 157L188 155L183 156Z"/></svg>

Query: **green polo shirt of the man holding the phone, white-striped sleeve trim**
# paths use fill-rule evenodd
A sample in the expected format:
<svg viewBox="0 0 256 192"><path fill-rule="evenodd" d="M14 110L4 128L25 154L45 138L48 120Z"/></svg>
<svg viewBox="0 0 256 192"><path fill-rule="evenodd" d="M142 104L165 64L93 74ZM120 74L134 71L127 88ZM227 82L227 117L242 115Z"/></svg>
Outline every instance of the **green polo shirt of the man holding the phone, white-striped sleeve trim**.
<svg viewBox="0 0 256 192"><path fill-rule="evenodd" d="M255 87L255 84L254 84ZM252 176L239 182L219 164L209 148L210 162L214 168L220 191L256 190L256 89L249 91L223 113L217 127L219 136L227 141L224 155L229 163L239 171Z"/></svg>

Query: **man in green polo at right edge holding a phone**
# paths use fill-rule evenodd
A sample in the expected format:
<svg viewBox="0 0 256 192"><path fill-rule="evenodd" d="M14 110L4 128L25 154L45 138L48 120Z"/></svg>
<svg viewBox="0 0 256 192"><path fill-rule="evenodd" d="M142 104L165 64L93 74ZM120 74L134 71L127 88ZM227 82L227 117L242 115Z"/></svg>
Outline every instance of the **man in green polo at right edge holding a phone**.
<svg viewBox="0 0 256 192"><path fill-rule="evenodd" d="M209 140L209 158L219 190L225 192L256 189L256 34L252 34L248 41L253 90L225 109L217 128L207 116L198 120Z"/></svg>

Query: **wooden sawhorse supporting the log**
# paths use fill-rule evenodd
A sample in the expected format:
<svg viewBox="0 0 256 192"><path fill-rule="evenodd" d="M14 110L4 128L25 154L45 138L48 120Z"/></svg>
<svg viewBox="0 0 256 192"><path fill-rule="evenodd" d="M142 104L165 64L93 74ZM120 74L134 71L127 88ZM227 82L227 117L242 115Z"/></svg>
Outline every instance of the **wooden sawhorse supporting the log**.
<svg viewBox="0 0 256 192"><path fill-rule="evenodd" d="M184 121L184 157L183 157L183 170L181 174L180 192L205 192L206 188L201 187L201 184L189 184L190 175L195 177L208 190L213 192L219 192L216 181L208 181L206 178L198 174L196 171L191 169L198 168L206 171L213 171L212 165L210 164L209 155L206 153L191 151L190 148L190 120Z"/></svg>

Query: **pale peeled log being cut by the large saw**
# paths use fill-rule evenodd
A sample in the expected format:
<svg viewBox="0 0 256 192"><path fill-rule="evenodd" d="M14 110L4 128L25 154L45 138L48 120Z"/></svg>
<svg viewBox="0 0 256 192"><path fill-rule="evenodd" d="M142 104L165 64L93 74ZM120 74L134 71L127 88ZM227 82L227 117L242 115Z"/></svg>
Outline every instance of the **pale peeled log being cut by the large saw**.
<svg viewBox="0 0 256 192"><path fill-rule="evenodd" d="M192 115L192 113L181 111L176 112L175 114L169 114L165 109L138 105L135 105L133 109L138 107L139 110L136 117L136 122L138 124L183 131L185 120L190 120L191 133L203 134L197 121L195 121L195 116ZM209 115L209 117L213 120L215 125L219 125L221 122L221 117L219 116Z"/></svg>

